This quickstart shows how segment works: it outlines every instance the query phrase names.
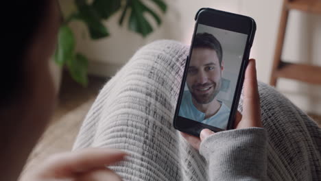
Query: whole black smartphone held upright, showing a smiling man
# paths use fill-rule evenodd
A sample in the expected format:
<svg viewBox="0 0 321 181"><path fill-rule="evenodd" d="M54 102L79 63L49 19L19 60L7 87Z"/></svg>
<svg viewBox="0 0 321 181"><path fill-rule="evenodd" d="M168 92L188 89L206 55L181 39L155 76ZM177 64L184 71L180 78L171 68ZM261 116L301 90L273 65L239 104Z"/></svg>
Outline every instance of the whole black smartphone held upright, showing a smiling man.
<svg viewBox="0 0 321 181"><path fill-rule="evenodd" d="M233 129L256 31L240 14L201 8L180 86L174 128L200 136Z"/></svg>

